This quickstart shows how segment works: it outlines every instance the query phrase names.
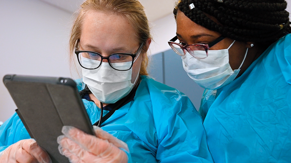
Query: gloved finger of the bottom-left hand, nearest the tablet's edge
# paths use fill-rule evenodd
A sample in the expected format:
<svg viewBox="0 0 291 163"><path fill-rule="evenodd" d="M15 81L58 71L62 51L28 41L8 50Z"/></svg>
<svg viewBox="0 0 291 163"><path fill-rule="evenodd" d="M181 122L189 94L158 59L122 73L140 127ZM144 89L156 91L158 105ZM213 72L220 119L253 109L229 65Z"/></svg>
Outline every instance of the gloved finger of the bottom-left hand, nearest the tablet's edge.
<svg viewBox="0 0 291 163"><path fill-rule="evenodd" d="M32 155L39 163L51 163L48 153L43 150L34 139L28 139L23 143L22 149Z"/></svg>

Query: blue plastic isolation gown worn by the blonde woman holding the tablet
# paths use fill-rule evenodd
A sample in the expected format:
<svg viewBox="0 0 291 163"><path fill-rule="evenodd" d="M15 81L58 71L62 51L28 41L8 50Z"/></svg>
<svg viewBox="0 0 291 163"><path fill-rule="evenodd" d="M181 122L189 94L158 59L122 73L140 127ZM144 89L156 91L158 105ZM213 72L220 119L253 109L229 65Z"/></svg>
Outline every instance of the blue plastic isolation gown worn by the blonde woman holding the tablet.
<svg viewBox="0 0 291 163"><path fill-rule="evenodd" d="M149 77L141 78L134 100L116 110L101 127L127 143L129 162L212 162L202 118L189 98ZM91 123L97 122L100 109L82 100ZM0 127L0 152L28 138L15 113Z"/></svg>

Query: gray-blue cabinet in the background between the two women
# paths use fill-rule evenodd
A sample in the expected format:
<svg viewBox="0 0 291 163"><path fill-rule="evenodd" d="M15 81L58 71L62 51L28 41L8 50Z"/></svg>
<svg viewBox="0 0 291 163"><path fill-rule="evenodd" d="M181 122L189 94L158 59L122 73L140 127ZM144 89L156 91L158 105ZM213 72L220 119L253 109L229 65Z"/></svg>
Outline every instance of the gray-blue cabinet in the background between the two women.
<svg viewBox="0 0 291 163"><path fill-rule="evenodd" d="M148 72L149 76L156 81L186 94L196 109L199 109L204 89L189 78L183 69L181 56L177 55L172 49L151 56Z"/></svg>

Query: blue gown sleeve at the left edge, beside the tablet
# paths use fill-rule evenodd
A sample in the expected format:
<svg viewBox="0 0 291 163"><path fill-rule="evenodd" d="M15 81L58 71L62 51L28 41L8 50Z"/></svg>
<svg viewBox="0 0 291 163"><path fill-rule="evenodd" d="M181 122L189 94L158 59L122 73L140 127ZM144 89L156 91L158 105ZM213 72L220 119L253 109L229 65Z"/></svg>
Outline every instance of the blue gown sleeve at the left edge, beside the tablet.
<svg viewBox="0 0 291 163"><path fill-rule="evenodd" d="M0 152L23 139L30 139L30 136L17 113L14 113L0 126Z"/></svg>

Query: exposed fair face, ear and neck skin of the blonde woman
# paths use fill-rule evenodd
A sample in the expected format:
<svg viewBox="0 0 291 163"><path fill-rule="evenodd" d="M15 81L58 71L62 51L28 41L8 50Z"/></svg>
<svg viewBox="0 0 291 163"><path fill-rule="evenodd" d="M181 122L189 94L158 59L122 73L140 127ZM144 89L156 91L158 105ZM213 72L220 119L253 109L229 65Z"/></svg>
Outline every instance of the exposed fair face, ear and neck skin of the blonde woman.
<svg viewBox="0 0 291 163"><path fill-rule="evenodd" d="M146 50L150 43L149 38L146 42ZM94 51L102 56L109 56L112 53L135 53L139 46L134 28L126 18L99 11L89 11L86 14L80 37L80 50ZM143 57L144 53L141 53L132 65L132 83L139 75ZM103 60L103 62L108 61ZM100 101L93 94L89 96L100 108ZM103 104L103 106L106 105Z"/></svg>

